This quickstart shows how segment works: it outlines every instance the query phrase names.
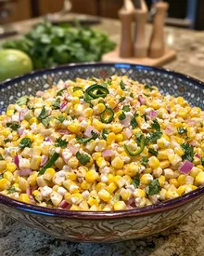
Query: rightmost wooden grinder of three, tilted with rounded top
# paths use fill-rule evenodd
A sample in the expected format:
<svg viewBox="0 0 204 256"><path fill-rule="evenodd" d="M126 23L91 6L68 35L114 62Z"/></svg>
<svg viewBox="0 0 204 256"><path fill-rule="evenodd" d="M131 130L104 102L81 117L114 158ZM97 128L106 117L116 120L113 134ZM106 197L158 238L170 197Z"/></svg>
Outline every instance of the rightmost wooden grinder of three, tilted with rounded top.
<svg viewBox="0 0 204 256"><path fill-rule="evenodd" d="M155 3L153 7L156 9L156 14L154 17L153 32L148 49L148 57L152 59L162 57L165 52L164 19L169 8L169 4L165 2L158 2Z"/></svg>

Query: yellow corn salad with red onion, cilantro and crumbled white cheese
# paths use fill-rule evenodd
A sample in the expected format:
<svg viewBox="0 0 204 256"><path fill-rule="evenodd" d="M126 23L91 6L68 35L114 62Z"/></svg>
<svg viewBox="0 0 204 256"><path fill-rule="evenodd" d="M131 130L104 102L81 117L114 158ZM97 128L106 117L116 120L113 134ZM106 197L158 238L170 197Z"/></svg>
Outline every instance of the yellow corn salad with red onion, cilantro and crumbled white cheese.
<svg viewBox="0 0 204 256"><path fill-rule="evenodd" d="M60 81L0 115L0 194L93 211L184 195L204 184L203 118L127 76Z"/></svg>

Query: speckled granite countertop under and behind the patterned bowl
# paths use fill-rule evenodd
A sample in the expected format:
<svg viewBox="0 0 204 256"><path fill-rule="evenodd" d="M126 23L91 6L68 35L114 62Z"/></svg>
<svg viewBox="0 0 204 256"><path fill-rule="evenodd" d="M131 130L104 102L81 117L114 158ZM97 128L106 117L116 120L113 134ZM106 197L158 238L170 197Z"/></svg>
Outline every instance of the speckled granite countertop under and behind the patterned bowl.
<svg viewBox="0 0 204 256"><path fill-rule="evenodd" d="M70 15L70 18L74 15ZM82 16L81 16L82 17ZM14 26L21 33L30 30L37 20L21 21ZM116 42L120 40L120 23L102 20L97 26L105 30ZM151 26L147 26L150 34ZM175 61L164 67L195 76L204 81L204 33L166 28L169 47L177 50ZM201 256L204 250L204 208L196 211L179 226L159 235L141 240L116 244L77 244L55 239L39 231L13 221L0 213L0 251L2 256Z"/></svg>

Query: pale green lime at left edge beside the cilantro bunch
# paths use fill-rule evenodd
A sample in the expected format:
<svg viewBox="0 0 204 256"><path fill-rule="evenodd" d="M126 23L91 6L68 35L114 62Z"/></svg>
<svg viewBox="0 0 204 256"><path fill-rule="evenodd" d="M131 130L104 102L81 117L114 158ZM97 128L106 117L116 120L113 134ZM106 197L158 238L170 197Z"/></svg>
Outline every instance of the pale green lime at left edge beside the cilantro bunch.
<svg viewBox="0 0 204 256"><path fill-rule="evenodd" d="M32 60L27 54L16 49L0 50L0 81L29 72L32 72Z"/></svg>

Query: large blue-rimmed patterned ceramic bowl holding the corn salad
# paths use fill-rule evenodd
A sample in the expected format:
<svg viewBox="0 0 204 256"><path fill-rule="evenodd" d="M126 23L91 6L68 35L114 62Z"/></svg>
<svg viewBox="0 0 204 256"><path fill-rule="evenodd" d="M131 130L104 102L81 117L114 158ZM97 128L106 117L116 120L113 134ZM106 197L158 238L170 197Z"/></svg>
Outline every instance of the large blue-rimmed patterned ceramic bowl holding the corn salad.
<svg viewBox="0 0 204 256"><path fill-rule="evenodd" d="M6 81L0 85L0 113L20 96L35 95L60 79L105 78L112 74L127 74L142 83L156 85L162 93L183 96L204 109L204 84L184 74L140 65L93 63L58 67ZM10 217L57 238L77 242L118 242L159 233L181 222L203 203L204 187L158 205L110 212L48 209L0 195L0 209Z"/></svg>

